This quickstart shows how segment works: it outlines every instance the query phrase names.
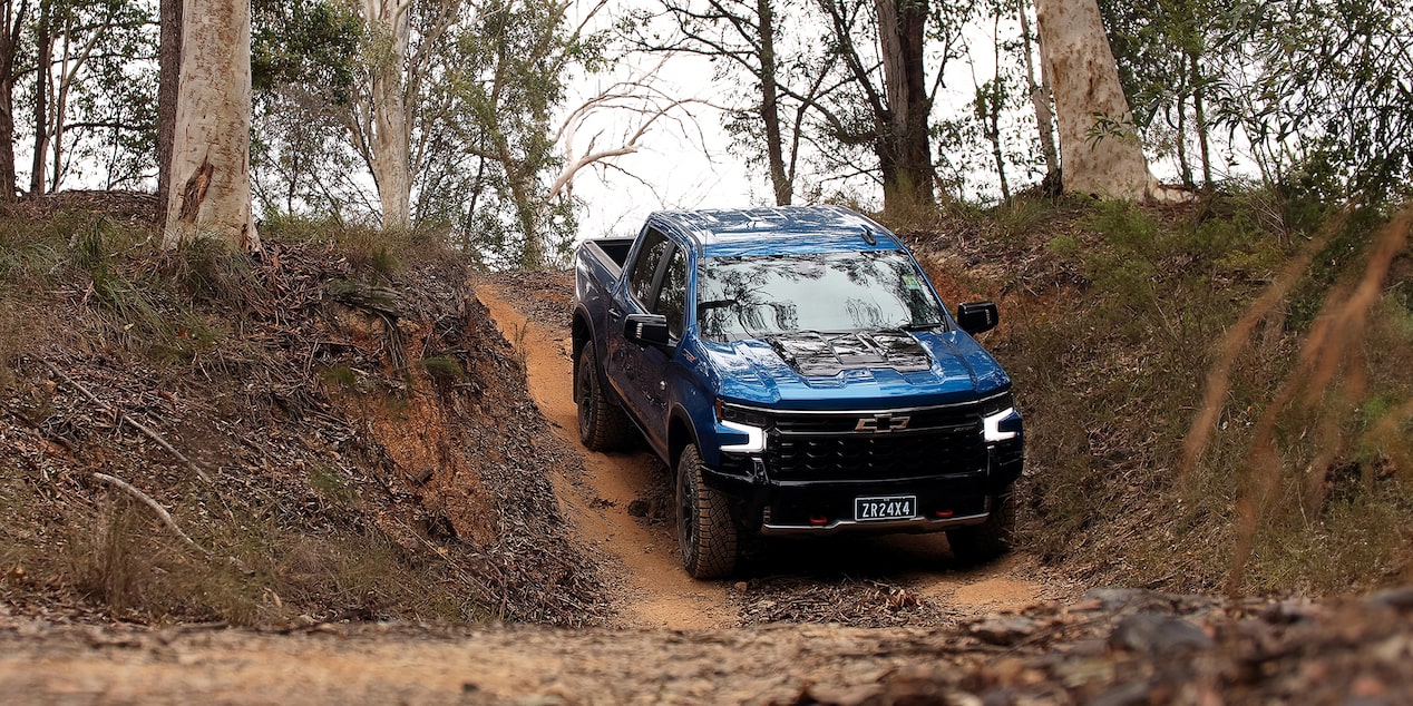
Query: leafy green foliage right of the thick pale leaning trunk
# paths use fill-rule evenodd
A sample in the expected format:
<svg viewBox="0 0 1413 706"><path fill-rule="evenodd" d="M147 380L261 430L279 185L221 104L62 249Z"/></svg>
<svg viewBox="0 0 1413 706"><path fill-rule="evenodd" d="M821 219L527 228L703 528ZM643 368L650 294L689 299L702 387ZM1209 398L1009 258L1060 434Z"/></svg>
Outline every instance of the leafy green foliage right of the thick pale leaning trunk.
<svg viewBox="0 0 1413 706"><path fill-rule="evenodd" d="M1198 145L1241 131L1267 186L1397 201L1413 178L1413 16L1402 0L1099 3L1125 93L1193 184ZM1235 148L1228 145L1235 152ZM1221 171L1207 155L1204 171Z"/></svg>

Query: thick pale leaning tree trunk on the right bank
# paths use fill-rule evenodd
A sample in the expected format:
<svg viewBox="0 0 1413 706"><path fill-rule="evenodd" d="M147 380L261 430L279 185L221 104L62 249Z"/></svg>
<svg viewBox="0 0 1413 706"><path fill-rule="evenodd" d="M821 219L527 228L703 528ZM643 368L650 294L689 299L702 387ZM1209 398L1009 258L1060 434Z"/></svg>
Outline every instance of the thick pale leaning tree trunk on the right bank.
<svg viewBox="0 0 1413 706"><path fill-rule="evenodd" d="M1036 18L1054 82L1064 191L1156 195L1096 1L1037 0Z"/></svg>

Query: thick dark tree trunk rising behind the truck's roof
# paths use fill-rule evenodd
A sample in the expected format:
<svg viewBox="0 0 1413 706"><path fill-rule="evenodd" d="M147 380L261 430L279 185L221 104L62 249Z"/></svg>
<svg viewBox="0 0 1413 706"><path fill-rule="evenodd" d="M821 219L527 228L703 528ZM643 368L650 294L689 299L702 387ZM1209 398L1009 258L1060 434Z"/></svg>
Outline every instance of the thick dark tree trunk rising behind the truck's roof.
<svg viewBox="0 0 1413 706"><path fill-rule="evenodd" d="M876 152L883 171L883 209L907 213L931 208L933 151L928 140L927 68L923 44L927 0L875 0L887 110Z"/></svg>

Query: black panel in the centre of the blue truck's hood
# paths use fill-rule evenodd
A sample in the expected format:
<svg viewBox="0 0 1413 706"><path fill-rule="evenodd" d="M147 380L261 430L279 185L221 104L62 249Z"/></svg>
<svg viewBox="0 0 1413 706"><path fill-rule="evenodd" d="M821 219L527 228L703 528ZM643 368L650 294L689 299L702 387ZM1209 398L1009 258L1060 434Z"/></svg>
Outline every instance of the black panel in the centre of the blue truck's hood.
<svg viewBox="0 0 1413 706"><path fill-rule="evenodd" d="M805 377L832 377L849 369L892 369L899 373L931 370L933 359L906 332L818 333L796 332L767 336L790 367Z"/></svg>

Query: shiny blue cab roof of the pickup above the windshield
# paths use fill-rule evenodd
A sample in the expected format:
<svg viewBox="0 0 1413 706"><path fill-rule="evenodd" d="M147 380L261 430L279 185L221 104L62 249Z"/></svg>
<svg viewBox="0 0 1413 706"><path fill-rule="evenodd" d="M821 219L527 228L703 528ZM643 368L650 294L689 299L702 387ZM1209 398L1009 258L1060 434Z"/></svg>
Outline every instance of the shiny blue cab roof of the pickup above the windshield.
<svg viewBox="0 0 1413 706"><path fill-rule="evenodd" d="M660 210L649 222L673 226L701 257L901 247L886 227L839 206Z"/></svg>

